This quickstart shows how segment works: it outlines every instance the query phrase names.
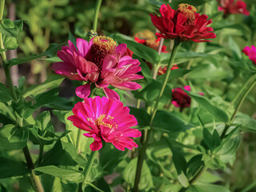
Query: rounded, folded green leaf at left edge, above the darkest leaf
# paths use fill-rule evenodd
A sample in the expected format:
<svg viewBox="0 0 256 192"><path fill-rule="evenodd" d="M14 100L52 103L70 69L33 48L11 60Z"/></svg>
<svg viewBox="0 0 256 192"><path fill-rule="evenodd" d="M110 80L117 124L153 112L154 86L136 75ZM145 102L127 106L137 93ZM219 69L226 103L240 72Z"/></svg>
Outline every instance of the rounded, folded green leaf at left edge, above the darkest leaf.
<svg viewBox="0 0 256 192"><path fill-rule="evenodd" d="M2 126L0 129L0 148L6 150L20 150L26 146L29 131L18 129L14 125Z"/></svg>

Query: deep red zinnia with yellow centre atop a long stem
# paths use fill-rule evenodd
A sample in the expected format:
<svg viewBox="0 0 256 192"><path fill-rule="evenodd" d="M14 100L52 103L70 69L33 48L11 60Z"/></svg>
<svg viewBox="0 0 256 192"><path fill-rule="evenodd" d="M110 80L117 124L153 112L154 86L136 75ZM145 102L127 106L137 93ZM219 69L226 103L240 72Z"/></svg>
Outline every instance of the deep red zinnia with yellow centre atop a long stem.
<svg viewBox="0 0 256 192"><path fill-rule="evenodd" d="M154 26L161 32L156 33L158 38L178 38L181 42L210 42L206 38L216 38L216 34L210 32L213 28L206 27L212 21L207 20L205 14L197 14L194 6L182 3L178 10L173 10L170 5L163 4L159 11L160 17L150 14Z"/></svg>

